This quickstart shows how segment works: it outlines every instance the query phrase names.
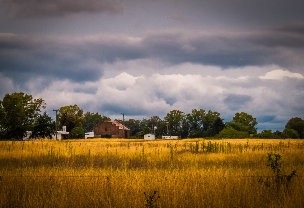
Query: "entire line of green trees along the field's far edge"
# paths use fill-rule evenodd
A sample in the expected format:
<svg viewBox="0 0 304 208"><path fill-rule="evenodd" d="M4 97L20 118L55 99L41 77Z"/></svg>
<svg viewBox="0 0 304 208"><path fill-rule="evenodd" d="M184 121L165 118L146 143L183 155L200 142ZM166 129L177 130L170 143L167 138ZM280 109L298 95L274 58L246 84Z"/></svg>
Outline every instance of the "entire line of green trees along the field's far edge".
<svg viewBox="0 0 304 208"><path fill-rule="evenodd" d="M22 139L26 131L32 131L30 138L52 138L56 122L47 112L42 113L45 105L43 99L33 99L23 92L6 94L0 100L0 139ZM92 132L96 124L110 120L98 112L84 113L76 104L64 106L57 114L57 130L66 126L69 138L84 138L85 132ZM157 138L165 135L180 138L304 138L304 120L301 118L291 118L282 133L271 129L257 133L256 118L245 112L235 113L226 123L219 112L204 109L193 109L188 114L171 110L164 119L153 116L143 120L129 119L124 123L130 129L131 138L143 138L147 133L155 133Z"/></svg>

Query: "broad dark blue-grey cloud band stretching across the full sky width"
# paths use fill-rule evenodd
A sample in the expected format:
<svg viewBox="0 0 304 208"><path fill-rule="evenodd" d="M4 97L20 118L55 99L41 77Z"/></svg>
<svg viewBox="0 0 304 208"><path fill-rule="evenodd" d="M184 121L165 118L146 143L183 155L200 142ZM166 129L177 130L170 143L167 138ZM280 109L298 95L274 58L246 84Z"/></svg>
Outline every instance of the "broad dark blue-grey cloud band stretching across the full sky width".
<svg viewBox="0 0 304 208"><path fill-rule="evenodd" d="M302 69L304 36L292 30L155 32L137 38L97 35L70 39L0 34L0 72L16 79L47 75L94 81L103 75L104 63L146 58L171 65L199 63L223 69L272 64Z"/></svg>

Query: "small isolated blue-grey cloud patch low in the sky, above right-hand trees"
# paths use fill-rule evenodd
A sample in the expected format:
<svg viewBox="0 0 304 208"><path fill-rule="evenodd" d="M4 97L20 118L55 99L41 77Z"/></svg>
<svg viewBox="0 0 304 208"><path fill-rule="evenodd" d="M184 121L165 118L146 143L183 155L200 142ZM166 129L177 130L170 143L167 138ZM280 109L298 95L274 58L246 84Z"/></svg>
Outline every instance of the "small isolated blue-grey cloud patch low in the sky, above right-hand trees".
<svg viewBox="0 0 304 208"><path fill-rule="evenodd" d="M251 100L252 97L248 95L228 94L224 99L224 103L229 107L230 110L236 111Z"/></svg>

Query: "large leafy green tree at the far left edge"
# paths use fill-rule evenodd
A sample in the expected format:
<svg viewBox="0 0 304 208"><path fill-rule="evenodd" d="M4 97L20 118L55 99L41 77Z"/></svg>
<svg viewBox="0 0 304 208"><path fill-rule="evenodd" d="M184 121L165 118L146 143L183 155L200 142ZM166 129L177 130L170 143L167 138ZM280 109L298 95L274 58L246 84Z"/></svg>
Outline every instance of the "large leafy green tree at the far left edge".
<svg viewBox="0 0 304 208"><path fill-rule="evenodd" d="M0 102L0 139L22 139L44 105L43 99L23 92L6 94Z"/></svg>

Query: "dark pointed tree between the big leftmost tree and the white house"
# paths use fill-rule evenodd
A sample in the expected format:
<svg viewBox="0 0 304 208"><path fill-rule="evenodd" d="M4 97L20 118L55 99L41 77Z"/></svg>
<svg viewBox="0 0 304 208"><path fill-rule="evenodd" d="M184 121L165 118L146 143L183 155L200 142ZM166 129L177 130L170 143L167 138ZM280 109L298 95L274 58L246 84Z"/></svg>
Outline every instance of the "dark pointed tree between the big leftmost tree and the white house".
<svg viewBox="0 0 304 208"><path fill-rule="evenodd" d="M47 112L39 115L34 122L33 131L29 136L32 138L49 138L52 139L52 135L55 134L55 123L52 122L53 118L49 117Z"/></svg>

